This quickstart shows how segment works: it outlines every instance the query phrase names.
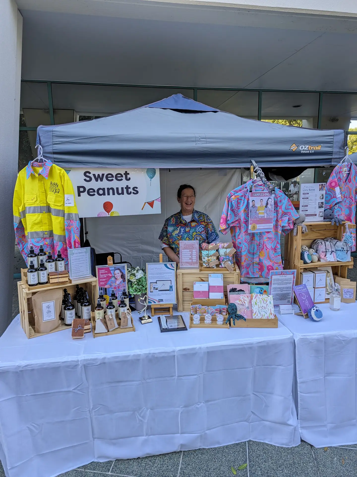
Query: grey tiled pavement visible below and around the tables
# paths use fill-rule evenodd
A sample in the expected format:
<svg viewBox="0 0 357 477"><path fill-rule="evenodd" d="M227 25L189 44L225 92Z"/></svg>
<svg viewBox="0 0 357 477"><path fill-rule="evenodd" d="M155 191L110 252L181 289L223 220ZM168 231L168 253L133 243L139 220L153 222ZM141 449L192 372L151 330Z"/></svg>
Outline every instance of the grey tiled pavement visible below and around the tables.
<svg viewBox="0 0 357 477"><path fill-rule="evenodd" d="M348 278L357 279L355 267ZM14 280L12 313L19 312ZM241 442L231 446L172 452L139 459L91 462L60 477L353 477L357 476L357 445L324 449L302 442L297 447ZM238 470L242 464L248 464ZM5 477L0 465L0 477Z"/></svg>

